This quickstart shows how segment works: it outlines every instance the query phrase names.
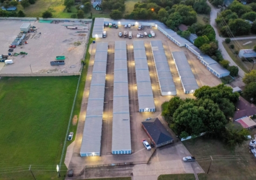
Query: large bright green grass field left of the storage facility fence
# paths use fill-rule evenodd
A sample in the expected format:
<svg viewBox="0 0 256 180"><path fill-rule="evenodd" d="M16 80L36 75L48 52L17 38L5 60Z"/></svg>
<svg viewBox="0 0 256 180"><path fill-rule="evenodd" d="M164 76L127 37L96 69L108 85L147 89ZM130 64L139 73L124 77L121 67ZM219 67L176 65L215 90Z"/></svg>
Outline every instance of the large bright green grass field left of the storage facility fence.
<svg viewBox="0 0 256 180"><path fill-rule="evenodd" d="M28 170L30 164L32 170L38 168L33 165L55 170L66 139L77 83L78 76L1 78L0 174L2 168L20 165ZM41 179L51 178L43 171L34 173L44 176ZM22 175L18 179L30 179ZM56 172L53 175L57 177ZM15 179L12 176L1 174L0 179Z"/></svg>

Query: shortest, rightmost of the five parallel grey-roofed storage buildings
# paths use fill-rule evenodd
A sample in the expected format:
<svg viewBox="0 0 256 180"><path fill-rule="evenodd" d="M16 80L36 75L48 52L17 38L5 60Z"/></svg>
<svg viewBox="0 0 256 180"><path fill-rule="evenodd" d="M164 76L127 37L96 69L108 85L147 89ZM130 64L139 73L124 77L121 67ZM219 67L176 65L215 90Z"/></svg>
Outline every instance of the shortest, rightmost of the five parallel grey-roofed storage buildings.
<svg viewBox="0 0 256 180"><path fill-rule="evenodd" d="M172 57L178 71L179 78L181 78L184 93L193 93L198 89L196 78L192 73L189 62L183 51L172 52Z"/></svg>

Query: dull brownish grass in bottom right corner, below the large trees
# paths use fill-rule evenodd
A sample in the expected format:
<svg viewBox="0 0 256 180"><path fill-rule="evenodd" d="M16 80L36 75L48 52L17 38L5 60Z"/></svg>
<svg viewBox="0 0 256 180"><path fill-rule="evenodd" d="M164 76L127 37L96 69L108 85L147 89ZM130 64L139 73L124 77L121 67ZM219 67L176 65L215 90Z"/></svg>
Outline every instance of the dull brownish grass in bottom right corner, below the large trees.
<svg viewBox="0 0 256 180"><path fill-rule="evenodd" d="M253 131L251 134L254 136L256 132ZM256 177L255 172L255 158L248 149L248 142L236 149L231 149L224 145L219 140L206 139L203 137L182 141L189 152L195 157L220 155L223 158L222 161L212 161L209 174L199 174L199 179L254 179ZM247 160L227 160L229 157L224 155L236 155L236 159L241 156L246 156ZM214 158L213 158L214 160ZM198 161L199 165L207 172L210 161Z"/></svg>

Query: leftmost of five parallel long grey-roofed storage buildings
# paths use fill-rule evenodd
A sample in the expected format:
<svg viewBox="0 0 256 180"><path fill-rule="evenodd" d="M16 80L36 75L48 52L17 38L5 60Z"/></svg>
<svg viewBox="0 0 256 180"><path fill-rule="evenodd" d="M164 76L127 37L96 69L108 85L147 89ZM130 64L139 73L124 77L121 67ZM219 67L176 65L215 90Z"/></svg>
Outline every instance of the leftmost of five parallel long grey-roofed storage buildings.
<svg viewBox="0 0 256 180"><path fill-rule="evenodd" d="M82 134L81 156L100 156L107 52L107 42L96 45L84 132Z"/></svg>

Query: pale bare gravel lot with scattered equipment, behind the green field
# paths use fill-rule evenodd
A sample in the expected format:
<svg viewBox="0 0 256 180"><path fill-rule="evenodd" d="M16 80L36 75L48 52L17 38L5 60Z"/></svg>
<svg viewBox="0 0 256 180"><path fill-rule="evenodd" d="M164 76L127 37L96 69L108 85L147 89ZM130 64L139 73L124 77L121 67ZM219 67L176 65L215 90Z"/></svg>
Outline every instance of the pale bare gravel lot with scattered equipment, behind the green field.
<svg viewBox="0 0 256 180"><path fill-rule="evenodd" d="M29 21L20 20L0 20L0 54L7 55L9 45L20 32L20 26ZM0 73L54 73L54 72L79 72L81 68L81 59L85 53L87 42L87 33L76 33L75 30L69 30L63 25L77 24L78 30L83 30L81 23L64 22L59 24L39 23L31 21L32 26L38 28L36 33L27 33L26 41L28 44L17 46L13 54L21 51L27 55L9 56L13 64L4 66ZM85 24L85 31L91 24ZM78 31L77 30L77 31ZM38 34L38 33L41 34ZM74 42L81 42L81 45L75 46ZM51 66L50 61L54 61L56 56L64 55L65 65ZM75 67L70 68L70 66ZM31 66L31 68L30 68Z"/></svg>

